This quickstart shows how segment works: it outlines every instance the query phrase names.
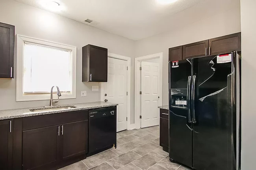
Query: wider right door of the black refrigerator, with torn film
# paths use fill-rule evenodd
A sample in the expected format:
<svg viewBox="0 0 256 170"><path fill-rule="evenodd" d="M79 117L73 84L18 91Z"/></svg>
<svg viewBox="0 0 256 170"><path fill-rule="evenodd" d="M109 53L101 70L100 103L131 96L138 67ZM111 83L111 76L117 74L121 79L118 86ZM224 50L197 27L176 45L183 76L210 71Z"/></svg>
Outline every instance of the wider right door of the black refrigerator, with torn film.
<svg viewBox="0 0 256 170"><path fill-rule="evenodd" d="M232 55L192 60L193 168L197 170L235 170Z"/></svg>

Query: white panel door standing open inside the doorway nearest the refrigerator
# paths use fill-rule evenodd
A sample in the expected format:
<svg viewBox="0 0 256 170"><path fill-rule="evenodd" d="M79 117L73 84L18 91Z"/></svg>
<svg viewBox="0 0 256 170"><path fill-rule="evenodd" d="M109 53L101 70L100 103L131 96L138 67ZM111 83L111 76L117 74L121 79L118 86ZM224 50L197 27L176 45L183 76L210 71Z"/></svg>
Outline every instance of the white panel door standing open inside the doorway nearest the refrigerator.
<svg viewBox="0 0 256 170"><path fill-rule="evenodd" d="M141 128L159 125L160 66L141 62Z"/></svg>

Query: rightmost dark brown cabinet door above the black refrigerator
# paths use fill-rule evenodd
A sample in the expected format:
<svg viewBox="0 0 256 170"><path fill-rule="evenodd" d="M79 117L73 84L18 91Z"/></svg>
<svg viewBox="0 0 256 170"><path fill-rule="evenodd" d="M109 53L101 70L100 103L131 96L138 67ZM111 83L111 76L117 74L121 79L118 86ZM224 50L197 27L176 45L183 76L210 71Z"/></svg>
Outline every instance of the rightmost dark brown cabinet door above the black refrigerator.
<svg viewBox="0 0 256 170"><path fill-rule="evenodd" d="M209 40L210 54L217 55L241 51L241 33L230 34Z"/></svg>

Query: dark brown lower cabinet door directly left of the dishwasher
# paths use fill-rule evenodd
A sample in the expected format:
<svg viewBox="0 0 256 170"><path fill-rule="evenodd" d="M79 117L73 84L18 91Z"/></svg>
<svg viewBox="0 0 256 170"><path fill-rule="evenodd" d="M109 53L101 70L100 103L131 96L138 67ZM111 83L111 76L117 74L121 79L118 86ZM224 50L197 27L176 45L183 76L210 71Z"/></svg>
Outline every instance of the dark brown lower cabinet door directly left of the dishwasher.
<svg viewBox="0 0 256 170"><path fill-rule="evenodd" d="M61 125L61 157L68 159L87 153L88 121Z"/></svg>

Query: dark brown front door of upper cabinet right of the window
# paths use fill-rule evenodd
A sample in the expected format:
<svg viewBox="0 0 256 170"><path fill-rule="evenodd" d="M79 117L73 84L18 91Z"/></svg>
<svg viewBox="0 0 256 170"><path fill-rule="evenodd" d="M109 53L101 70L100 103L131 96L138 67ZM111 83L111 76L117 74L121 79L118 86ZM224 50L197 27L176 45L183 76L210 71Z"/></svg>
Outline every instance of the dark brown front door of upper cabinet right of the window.
<svg viewBox="0 0 256 170"><path fill-rule="evenodd" d="M108 81L108 49L89 45L89 81Z"/></svg>

